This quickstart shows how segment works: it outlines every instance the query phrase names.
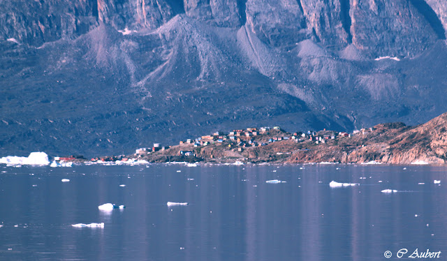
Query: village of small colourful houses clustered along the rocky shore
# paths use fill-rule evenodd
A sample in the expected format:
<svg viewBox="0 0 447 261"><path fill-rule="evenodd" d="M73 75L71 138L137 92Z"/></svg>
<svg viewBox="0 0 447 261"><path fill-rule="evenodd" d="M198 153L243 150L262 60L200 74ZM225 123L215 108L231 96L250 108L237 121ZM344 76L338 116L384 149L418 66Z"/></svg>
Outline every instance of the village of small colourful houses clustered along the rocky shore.
<svg viewBox="0 0 447 261"><path fill-rule="evenodd" d="M367 135L374 128L362 128L352 133L333 130L307 130L307 132L288 133L279 126L218 131L210 135L179 141L175 146L161 146L135 149L131 155L103 156L88 160L84 156L71 155L55 157L57 162L284 162L291 154L309 149L321 150L322 146L339 144L358 135ZM348 142L349 143L349 142Z"/></svg>

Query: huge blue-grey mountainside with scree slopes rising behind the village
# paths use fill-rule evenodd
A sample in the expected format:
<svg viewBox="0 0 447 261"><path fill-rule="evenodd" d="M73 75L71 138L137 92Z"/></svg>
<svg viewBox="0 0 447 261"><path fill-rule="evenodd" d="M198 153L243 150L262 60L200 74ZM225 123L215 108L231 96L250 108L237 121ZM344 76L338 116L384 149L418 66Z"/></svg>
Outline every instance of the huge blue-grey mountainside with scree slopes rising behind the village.
<svg viewBox="0 0 447 261"><path fill-rule="evenodd" d="M353 130L447 111L443 0L0 10L0 154L122 154L214 130Z"/></svg>

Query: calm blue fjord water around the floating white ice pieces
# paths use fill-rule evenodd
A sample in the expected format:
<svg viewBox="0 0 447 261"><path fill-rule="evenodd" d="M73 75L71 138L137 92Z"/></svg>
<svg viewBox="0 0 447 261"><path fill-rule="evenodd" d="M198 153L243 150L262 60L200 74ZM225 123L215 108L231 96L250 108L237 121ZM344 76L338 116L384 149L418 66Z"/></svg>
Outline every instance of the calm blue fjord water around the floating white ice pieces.
<svg viewBox="0 0 447 261"><path fill-rule="evenodd" d="M401 248L447 255L447 167L0 170L0 260L386 260L385 251L396 259ZM272 179L286 183L265 183ZM332 180L360 186L330 188ZM107 202L126 209L100 211Z"/></svg>

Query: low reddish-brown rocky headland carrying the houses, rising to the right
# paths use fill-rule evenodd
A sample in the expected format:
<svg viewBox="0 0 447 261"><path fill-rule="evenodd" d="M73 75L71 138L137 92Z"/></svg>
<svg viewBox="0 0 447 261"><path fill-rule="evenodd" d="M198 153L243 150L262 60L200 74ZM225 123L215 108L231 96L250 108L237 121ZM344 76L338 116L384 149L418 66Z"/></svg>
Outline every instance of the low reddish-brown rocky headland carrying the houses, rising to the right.
<svg viewBox="0 0 447 261"><path fill-rule="evenodd" d="M215 139L219 137L214 137L214 141L208 144L202 141L202 145L198 138L126 158L150 163L444 164L447 160L447 113L419 126L379 124L346 134L328 130L287 133L270 129L263 134L237 136L237 140L224 135L225 140L217 142Z"/></svg>

